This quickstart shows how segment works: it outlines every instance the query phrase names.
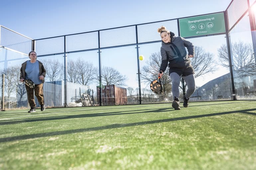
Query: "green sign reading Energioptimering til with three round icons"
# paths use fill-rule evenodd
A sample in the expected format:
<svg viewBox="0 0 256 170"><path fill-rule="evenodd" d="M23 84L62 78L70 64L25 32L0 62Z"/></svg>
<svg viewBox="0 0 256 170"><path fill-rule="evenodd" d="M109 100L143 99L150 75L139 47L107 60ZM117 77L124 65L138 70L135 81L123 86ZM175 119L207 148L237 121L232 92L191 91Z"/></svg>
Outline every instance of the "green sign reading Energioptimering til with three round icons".
<svg viewBox="0 0 256 170"><path fill-rule="evenodd" d="M179 19L182 37L226 32L224 13Z"/></svg>

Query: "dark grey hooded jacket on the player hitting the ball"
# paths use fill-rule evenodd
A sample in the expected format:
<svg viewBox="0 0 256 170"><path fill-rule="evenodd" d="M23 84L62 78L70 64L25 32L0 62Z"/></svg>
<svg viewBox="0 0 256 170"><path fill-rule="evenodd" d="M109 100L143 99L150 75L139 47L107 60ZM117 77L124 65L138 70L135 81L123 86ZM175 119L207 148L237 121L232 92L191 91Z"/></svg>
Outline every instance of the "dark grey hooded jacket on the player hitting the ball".
<svg viewBox="0 0 256 170"><path fill-rule="evenodd" d="M168 66L168 62L170 61L173 61L173 60L182 61L182 58L188 59L186 48L188 49L189 55L194 55L194 46L191 42L187 41L183 37L180 37L180 36L176 37L173 32L170 32L170 35L171 35L171 42L165 43L164 41L162 41L162 47L161 47L162 63L159 69L160 71L165 71ZM169 63L169 67L172 67L171 63Z"/></svg>

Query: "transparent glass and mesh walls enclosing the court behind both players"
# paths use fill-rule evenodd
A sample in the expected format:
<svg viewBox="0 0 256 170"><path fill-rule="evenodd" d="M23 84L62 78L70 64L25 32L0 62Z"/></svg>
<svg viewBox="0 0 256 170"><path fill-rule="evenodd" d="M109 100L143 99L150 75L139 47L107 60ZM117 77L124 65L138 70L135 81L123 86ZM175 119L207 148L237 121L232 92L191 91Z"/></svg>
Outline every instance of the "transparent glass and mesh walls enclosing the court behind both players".
<svg viewBox="0 0 256 170"><path fill-rule="evenodd" d="M195 47L191 62L196 90L190 100L256 99L253 6L252 0L233 0L226 11L219 12L225 16L226 32L185 37ZM24 85L18 80L21 64L33 49L47 69L47 107L172 102L168 70L161 94L153 93L149 86L161 64L160 26L180 35L179 19L36 40L1 26L5 108L28 107ZM11 69L16 69L16 75L10 74ZM180 97L183 89L186 84L181 80Z"/></svg>

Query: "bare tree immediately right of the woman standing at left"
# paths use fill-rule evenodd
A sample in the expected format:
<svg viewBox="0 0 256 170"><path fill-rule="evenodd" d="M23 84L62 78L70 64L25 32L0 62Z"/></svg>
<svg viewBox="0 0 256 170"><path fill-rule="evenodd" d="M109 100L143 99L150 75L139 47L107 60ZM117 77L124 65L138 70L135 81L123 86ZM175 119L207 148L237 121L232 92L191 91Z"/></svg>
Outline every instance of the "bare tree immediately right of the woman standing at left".
<svg viewBox="0 0 256 170"><path fill-rule="evenodd" d="M59 60L42 60L42 63L46 69L47 79L50 79L50 82L63 80L64 66Z"/></svg>

